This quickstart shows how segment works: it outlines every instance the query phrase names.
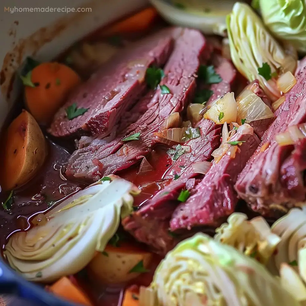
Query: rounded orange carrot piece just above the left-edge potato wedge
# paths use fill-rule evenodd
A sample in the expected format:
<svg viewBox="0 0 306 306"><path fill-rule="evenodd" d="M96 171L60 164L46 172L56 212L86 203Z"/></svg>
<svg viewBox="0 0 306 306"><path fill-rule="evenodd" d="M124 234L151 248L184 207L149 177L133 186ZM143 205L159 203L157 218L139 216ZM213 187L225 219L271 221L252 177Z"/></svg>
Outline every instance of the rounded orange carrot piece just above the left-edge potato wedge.
<svg viewBox="0 0 306 306"><path fill-rule="evenodd" d="M25 86L26 106L39 124L48 124L81 79L68 66L52 62L36 66L31 81L35 87Z"/></svg>

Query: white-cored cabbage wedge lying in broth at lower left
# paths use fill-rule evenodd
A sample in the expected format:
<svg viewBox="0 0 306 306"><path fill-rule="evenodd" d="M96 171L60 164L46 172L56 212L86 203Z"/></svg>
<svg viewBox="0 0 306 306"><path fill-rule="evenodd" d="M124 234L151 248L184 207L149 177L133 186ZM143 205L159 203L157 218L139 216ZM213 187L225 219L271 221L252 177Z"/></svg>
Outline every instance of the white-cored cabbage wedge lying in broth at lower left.
<svg viewBox="0 0 306 306"><path fill-rule="evenodd" d="M26 279L52 282L83 269L132 211L135 187L123 179L100 181L47 214L45 225L10 237L4 256ZM79 196L78 196L79 194Z"/></svg>

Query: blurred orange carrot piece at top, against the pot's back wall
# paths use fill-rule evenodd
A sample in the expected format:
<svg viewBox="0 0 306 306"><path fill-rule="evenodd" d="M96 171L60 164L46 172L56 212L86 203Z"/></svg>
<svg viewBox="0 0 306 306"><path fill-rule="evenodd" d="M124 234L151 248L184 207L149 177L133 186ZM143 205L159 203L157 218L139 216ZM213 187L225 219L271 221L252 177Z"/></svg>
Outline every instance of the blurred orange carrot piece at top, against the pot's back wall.
<svg viewBox="0 0 306 306"><path fill-rule="evenodd" d="M103 36L145 31L151 26L157 16L156 9L154 7L148 7L127 19L106 27L103 30Z"/></svg>

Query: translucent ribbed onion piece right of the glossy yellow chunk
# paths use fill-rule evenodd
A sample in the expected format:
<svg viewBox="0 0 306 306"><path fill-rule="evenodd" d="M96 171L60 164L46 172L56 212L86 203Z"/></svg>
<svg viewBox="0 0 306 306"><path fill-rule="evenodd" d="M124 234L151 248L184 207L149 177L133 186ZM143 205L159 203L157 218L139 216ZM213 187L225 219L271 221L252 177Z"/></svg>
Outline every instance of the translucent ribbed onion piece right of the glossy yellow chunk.
<svg viewBox="0 0 306 306"><path fill-rule="evenodd" d="M248 88L241 92L236 101L238 123L242 119L246 119L246 122L251 122L272 118L274 116L269 106Z"/></svg>

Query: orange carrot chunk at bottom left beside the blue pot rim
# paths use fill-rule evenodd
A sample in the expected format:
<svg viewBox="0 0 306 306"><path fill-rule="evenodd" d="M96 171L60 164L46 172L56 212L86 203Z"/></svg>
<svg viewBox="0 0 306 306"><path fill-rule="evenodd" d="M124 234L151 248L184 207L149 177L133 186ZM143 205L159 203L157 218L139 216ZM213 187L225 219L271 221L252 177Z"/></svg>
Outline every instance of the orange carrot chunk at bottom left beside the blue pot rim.
<svg viewBox="0 0 306 306"><path fill-rule="evenodd" d="M84 306L92 306L85 293L83 293L82 290L74 285L67 277L62 277L53 285L47 287L47 290L70 302Z"/></svg>

